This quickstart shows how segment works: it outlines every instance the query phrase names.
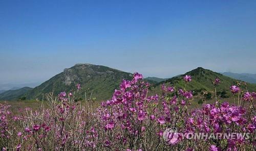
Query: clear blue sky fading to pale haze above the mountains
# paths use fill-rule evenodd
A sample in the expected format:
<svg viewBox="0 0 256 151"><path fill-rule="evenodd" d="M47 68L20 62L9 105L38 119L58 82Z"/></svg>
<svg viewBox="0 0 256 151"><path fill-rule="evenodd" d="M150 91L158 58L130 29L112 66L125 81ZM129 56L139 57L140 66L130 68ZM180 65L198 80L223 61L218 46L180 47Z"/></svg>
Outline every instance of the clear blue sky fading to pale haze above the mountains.
<svg viewBox="0 0 256 151"><path fill-rule="evenodd" d="M256 1L0 1L0 84L76 63L161 78L256 73Z"/></svg>

